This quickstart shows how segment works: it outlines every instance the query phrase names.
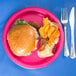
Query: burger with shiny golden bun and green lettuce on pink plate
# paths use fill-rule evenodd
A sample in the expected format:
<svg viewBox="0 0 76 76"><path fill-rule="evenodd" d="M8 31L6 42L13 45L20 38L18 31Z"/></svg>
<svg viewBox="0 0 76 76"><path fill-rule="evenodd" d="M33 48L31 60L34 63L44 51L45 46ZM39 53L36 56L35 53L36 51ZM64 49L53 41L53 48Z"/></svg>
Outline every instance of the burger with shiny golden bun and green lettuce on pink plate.
<svg viewBox="0 0 76 76"><path fill-rule="evenodd" d="M8 31L9 47L16 56L27 56L36 49L37 30L25 21L17 20Z"/></svg>

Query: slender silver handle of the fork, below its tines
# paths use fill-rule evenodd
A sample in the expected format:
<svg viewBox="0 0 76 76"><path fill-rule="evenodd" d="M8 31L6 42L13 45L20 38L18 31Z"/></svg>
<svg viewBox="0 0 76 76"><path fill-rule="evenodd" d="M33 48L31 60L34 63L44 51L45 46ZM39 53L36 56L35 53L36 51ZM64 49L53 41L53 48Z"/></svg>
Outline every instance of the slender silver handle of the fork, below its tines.
<svg viewBox="0 0 76 76"><path fill-rule="evenodd" d="M64 24L64 37L65 37L65 42L64 42L64 56L68 57L69 56L69 49L67 45L67 34L66 34L66 24Z"/></svg>

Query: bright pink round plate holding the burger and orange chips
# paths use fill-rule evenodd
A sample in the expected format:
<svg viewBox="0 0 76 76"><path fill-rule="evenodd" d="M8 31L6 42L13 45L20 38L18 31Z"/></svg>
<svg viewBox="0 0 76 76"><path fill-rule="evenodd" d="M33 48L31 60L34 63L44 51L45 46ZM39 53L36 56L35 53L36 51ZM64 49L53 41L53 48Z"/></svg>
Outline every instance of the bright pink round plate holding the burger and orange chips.
<svg viewBox="0 0 76 76"><path fill-rule="evenodd" d="M44 17L48 17L49 20L51 20L52 22L56 22L59 25L60 37L59 37L59 42L56 45L54 56L47 57L47 58L39 58L37 55L38 49L35 50L30 56L25 56L25 57L15 56L11 52L7 41L7 33L10 27L14 24L14 22L17 19L25 20L26 22L32 20L32 21L36 21L39 25L42 25L42 19ZM12 15L9 18L3 30L2 41L7 55L14 63L16 63L17 65L23 68L38 69L38 68L43 68L45 66L48 66L59 56L63 48L64 33L59 20L51 12L38 7L29 7L16 12L14 15Z"/></svg>

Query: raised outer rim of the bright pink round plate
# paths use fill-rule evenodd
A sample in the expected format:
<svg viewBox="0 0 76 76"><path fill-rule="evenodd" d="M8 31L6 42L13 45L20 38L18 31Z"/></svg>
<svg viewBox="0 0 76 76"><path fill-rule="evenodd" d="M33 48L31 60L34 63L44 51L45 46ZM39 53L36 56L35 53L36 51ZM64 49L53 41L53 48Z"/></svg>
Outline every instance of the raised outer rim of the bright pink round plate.
<svg viewBox="0 0 76 76"><path fill-rule="evenodd" d="M16 60L11 54L10 52L8 51L8 48L7 48L7 45L6 45L6 39L5 39L5 35L6 35L6 25L11 23L12 20L14 20L14 18L16 18L17 15L23 13L23 12L26 12L26 11L29 11L29 10L37 10L37 11L43 11L43 12L46 12L47 14L49 14L49 16L52 15L52 17L56 20L56 22L59 24L60 26L60 32L61 32L61 45L60 45L60 48L58 49L58 51L56 52L56 54L52 57L52 59L50 59L47 63L44 63L44 64L41 64L41 65L37 65L37 66L30 66L30 65L26 65L26 64L22 64L21 62L19 62L18 60ZM45 66L48 66L49 64L51 64L60 54L62 48L63 48L63 44L64 44L64 32L63 32L63 29L62 29L62 26L61 26L61 23L59 22L59 20L51 13L49 12L48 10L45 10L45 9L42 9L42 8L39 8L39 7L28 7L28 8L24 8L24 9L21 9L19 10L18 12L16 12L14 15L12 15L9 20L7 21L5 27L4 27L4 30L3 30L3 34L2 34L2 42L3 42L3 46L4 46L4 49L8 55L8 57L14 62L16 63L17 65L23 67L23 68L28 68L28 69L38 69L38 68L43 68Z"/></svg>

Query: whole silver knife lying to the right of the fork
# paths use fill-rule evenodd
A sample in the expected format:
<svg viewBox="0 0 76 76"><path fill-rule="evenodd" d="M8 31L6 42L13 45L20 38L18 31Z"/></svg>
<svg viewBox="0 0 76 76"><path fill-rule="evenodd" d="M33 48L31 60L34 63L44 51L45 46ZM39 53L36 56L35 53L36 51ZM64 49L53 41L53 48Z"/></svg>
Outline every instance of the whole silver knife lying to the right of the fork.
<svg viewBox="0 0 76 76"><path fill-rule="evenodd" d="M74 24L75 24L75 8L72 7L69 17L69 23L71 28L71 51L70 58L75 58L75 47L74 47Z"/></svg>

